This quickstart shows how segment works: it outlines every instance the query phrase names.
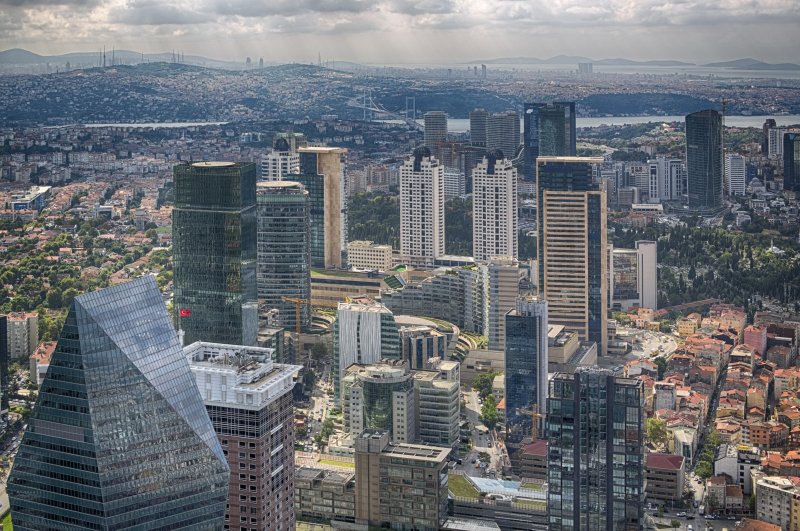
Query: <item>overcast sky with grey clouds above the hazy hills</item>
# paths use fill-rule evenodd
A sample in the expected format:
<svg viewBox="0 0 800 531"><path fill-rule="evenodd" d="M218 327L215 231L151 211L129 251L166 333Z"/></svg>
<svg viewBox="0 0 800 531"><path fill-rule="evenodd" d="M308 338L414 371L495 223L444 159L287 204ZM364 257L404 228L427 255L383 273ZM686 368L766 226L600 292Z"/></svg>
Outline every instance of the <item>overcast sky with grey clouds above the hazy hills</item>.
<svg viewBox="0 0 800 531"><path fill-rule="evenodd" d="M800 0L0 0L0 49L442 63L800 62Z"/></svg>

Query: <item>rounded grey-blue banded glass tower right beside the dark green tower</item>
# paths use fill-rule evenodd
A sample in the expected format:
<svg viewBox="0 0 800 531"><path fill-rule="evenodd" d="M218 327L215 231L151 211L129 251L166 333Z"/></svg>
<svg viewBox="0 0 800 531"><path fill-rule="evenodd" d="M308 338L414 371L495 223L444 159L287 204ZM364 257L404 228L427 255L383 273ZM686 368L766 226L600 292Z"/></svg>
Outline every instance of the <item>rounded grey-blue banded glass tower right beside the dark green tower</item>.
<svg viewBox="0 0 800 531"><path fill-rule="evenodd" d="M256 188L258 299L279 310L280 325L311 325L311 250L308 192L293 181L260 182ZM295 299L295 300L289 300ZM299 299L299 301L297 301Z"/></svg>

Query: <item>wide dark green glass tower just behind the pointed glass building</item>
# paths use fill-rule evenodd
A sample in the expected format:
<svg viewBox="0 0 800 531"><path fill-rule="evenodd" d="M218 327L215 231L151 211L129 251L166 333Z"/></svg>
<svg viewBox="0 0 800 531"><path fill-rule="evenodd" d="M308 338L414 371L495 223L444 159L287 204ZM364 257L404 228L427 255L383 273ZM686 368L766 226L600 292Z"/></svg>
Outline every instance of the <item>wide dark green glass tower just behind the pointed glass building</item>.
<svg viewBox="0 0 800 531"><path fill-rule="evenodd" d="M174 174L175 322L186 344L255 345L255 164L179 164Z"/></svg>

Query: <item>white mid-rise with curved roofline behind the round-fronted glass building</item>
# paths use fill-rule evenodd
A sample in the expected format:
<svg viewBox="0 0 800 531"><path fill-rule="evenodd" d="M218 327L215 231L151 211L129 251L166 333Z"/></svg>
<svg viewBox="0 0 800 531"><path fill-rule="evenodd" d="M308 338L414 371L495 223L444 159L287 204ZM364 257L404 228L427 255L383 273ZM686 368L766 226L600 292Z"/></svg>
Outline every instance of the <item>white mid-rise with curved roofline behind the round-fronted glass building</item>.
<svg viewBox="0 0 800 531"><path fill-rule="evenodd" d="M400 334L394 314L367 297L340 302L333 323L334 397L341 403L341 384L354 363L368 365L382 359L400 359Z"/></svg>

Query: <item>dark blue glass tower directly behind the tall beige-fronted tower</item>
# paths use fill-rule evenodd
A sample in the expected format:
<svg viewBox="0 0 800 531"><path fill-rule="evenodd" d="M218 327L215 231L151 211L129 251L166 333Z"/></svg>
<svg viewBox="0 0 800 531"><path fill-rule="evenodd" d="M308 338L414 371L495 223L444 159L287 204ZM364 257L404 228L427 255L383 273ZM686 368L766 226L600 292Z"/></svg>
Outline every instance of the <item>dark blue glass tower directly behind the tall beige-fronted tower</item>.
<svg viewBox="0 0 800 531"><path fill-rule="evenodd" d="M576 155L575 103L526 103L523 115L524 177L536 180L536 159Z"/></svg>

